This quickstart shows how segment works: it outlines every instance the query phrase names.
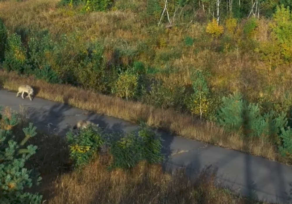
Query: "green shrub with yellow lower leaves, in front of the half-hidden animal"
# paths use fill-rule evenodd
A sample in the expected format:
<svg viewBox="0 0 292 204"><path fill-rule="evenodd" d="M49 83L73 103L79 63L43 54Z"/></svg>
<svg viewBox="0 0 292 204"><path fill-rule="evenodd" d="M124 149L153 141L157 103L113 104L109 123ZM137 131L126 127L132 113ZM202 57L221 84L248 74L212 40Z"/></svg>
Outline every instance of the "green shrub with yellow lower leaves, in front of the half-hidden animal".
<svg viewBox="0 0 292 204"><path fill-rule="evenodd" d="M105 143L101 129L95 126L81 129L79 135L69 131L66 137L70 147L70 157L74 160L76 168L88 164Z"/></svg>

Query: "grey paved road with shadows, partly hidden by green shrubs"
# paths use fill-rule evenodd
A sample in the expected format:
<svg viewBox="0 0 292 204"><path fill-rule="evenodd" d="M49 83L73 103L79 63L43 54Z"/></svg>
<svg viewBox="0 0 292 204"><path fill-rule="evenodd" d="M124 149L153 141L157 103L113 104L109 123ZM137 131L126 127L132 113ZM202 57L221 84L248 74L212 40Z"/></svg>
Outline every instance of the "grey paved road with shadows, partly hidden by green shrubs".
<svg viewBox="0 0 292 204"><path fill-rule="evenodd" d="M0 90L0 105L19 110L28 109L28 117L43 130L63 135L77 120L86 119L109 130L130 131L137 126L113 117L98 114L86 115L86 111L40 98L16 98L13 92ZM46 126L49 124L51 129ZM182 166L189 175L210 167L215 170L218 184L230 187L244 195L257 196L259 200L273 203L290 203L292 198L292 167L241 152L227 150L162 133L164 153L170 155L165 168L174 171ZM181 153L179 153L181 152ZM292 202L291 202L292 203Z"/></svg>

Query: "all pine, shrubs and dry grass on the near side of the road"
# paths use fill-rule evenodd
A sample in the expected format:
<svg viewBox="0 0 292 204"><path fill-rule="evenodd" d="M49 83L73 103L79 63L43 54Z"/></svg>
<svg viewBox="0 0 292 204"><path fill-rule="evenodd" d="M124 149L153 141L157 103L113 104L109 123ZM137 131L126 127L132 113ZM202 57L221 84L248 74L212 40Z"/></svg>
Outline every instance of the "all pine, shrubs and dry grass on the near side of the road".
<svg viewBox="0 0 292 204"><path fill-rule="evenodd" d="M258 203L218 189L210 172L198 174L197 180L183 171L163 173L161 138L145 124L123 134L90 126L78 135L69 131L64 140L37 131L23 115L6 108L0 127L4 204Z"/></svg>

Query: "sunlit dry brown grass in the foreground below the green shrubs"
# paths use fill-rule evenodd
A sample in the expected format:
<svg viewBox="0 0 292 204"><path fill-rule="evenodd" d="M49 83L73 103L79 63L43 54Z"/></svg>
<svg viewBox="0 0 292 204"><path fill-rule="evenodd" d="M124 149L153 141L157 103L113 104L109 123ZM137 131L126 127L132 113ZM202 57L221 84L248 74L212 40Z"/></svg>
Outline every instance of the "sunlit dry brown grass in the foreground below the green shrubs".
<svg viewBox="0 0 292 204"><path fill-rule="evenodd" d="M160 165L139 163L131 172L106 170L109 156L100 156L82 173L62 175L51 185L53 198L49 204L65 203L256 203L236 197L214 186L214 177L198 175L193 184L184 172L163 173Z"/></svg>

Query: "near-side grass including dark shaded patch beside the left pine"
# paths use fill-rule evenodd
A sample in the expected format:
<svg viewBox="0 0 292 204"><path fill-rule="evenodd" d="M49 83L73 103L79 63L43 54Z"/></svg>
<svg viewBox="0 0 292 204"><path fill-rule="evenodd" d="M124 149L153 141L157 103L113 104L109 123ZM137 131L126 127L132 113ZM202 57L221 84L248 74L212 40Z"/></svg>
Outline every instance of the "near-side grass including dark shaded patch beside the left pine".
<svg viewBox="0 0 292 204"><path fill-rule="evenodd" d="M6 108L4 115L11 114ZM21 129L28 122L25 110L21 109L22 122L12 131L20 137ZM3 124L3 121L0 121ZM214 176L203 171L194 180L189 180L184 171L170 175L161 165L140 162L132 170L107 170L112 161L104 152L82 170L70 168L69 150L66 141L57 135L37 131L29 143L38 146L29 160L28 168L41 173L41 186L30 189L43 195L46 203L259 203L235 196L230 190L214 184Z"/></svg>

